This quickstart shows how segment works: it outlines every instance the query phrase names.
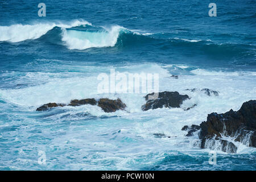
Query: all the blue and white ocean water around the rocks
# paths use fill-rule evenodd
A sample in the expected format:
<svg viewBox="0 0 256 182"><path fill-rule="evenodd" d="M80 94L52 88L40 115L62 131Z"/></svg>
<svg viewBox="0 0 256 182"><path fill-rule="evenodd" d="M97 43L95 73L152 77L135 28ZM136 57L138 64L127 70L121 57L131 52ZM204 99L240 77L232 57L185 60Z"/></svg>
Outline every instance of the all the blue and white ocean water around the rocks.
<svg viewBox="0 0 256 182"><path fill-rule="evenodd" d="M194 146L198 137L181 131L255 100L255 0L42 2L46 17L38 16L39 1L0 2L1 170L256 169L255 148L235 143L237 154L215 151L213 165L210 150ZM212 2L216 17L208 15ZM110 69L158 73L160 92L191 100L142 111L146 93L98 93L97 76ZM105 97L121 98L129 112L91 105L35 111Z"/></svg>

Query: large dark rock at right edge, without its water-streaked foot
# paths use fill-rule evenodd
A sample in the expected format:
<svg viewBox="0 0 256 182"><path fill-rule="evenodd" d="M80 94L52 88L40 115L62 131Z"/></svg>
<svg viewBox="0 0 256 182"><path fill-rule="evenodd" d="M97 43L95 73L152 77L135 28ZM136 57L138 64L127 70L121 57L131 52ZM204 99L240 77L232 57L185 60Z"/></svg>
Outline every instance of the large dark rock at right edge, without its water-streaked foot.
<svg viewBox="0 0 256 182"><path fill-rule="evenodd" d="M254 140L256 131L256 100L243 103L238 111L232 109L224 114L208 114L207 121L200 124L199 138L235 137L236 141L256 147ZM246 138L250 140L250 142Z"/></svg>

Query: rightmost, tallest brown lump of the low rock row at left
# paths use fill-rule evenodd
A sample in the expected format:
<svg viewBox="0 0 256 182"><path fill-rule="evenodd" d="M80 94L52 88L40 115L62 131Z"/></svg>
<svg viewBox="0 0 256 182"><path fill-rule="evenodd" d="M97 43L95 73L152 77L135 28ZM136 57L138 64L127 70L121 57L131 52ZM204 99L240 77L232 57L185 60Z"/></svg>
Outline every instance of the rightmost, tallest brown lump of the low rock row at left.
<svg viewBox="0 0 256 182"><path fill-rule="evenodd" d="M98 101L98 106L100 106L106 113L115 112L119 109L124 110L126 107L119 98L117 100L101 98L100 101Z"/></svg>

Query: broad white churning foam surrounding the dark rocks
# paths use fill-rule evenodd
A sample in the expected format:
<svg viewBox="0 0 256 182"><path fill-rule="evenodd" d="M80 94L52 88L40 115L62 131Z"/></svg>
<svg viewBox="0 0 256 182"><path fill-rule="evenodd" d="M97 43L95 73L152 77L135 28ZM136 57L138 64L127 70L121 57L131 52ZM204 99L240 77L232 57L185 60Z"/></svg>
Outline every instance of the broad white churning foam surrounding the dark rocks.
<svg viewBox="0 0 256 182"><path fill-rule="evenodd" d="M109 69L110 68L113 67L109 67ZM34 79L35 77L38 77L40 80L41 75L43 76L43 79L46 80L46 83L22 89L0 90L0 98L8 103L18 105L19 108L22 108L24 111L33 112L36 107L48 102L68 103L72 99L104 97L116 99L119 97L125 102L127 105L126 110L130 113L127 113L126 111L118 111L117 113L111 114L104 113L100 107L90 105L80 107L67 106L58 108L59 110L65 110L64 113L49 115L48 119L51 121L51 124L53 121L64 122L67 121L67 118L65 118L67 116L65 115L69 115L68 121L77 120L76 122L78 122L80 121L80 118L76 118L76 115L84 112L90 113L96 117L103 117L105 115L107 117L119 116L120 118L118 119L107 119L108 121L104 120L104 122L97 121L92 125L82 128L73 126L67 130L67 134L61 138L56 138L54 142L71 142L71 138L82 139L85 135L98 136L99 134L109 134L120 130L120 133L116 135L116 137L119 137L117 140L110 140L112 136L111 134L108 135L108 138L106 139L94 138L91 142L98 142L99 140L102 142L108 141L117 146L125 143L127 144L127 148L123 155L125 155L125 158L127 159L129 156L133 158L135 155L138 155L138 152L141 155L148 155L148 150L159 152L154 155L159 156L159 158L162 156L163 151L168 151L170 149L183 152L199 150L199 148L193 147L193 143L195 143L198 137L185 137L185 134L187 133L181 131L181 128L184 125L199 125L207 119L207 114L212 112L224 113L230 109L238 110L243 102L255 99L256 94L255 78L245 76L241 72L239 74L237 72L232 72L232 74L220 75L217 74L218 72L203 75L183 75L179 79L173 79L168 77L171 74L168 73L167 69L157 64L127 65L115 69L117 72L131 73L158 72L160 78L160 92L164 90L177 91L180 94L188 94L188 96L191 97L191 100L184 101L181 108L163 108L142 111L141 106L146 103L143 98L145 94L98 94L97 75L87 75L86 77L73 75L72 77L60 77L58 75L59 73L55 73L56 75L53 74L49 77L46 77L43 74L30 74L27 79L31 78L33 81L36 81ZM98 71L101 71L101 69ZM190 92L185 90L189 88L209 88L218 90L219 96L209 97L201 92ZM197 106L188 111L183 110L193 104L197 104ZM86 122L89 123L89 121ZM131 126L133 127L131 128ZM154 133L163 133L171 138L155 138L153 135ZM143 141L143 144L140 143L139 146L137 146L135 143L138 140ZM72 140L72 143L79 146L79 148L86 148L85 146L89 145L88 141L82 141L84 142L76 142L75 140ZM116 141L120 141L121 144L118 142L115 143ZM155 143L154 146L152 146L152 142ZM91 147L92 146L88 148ZM95 148L95 150L100 150L98 144L93 146L93 148ZM255 150L244 144L239 144L237 152L240 154L240 152L246 153L251 151ZM111 149L109 152L112 152ZM114 154L117 154L116 151L113 152ZM79 156L77 157L79 158ZM104 156L101 157L104 158ZM113 158L114 157L116 156L113 156ZM92 160L95 161L96 159ZM115 161L126 163L122 158L118 158ZM123 167L125 167L125 164Z"/></svg>

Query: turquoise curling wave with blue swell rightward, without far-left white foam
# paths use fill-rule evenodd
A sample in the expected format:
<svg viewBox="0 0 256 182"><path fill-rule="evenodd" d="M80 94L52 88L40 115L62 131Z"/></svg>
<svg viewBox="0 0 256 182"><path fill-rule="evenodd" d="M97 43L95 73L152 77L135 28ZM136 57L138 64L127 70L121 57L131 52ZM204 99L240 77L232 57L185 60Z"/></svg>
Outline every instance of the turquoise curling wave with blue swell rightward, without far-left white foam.
<svg viewBox="0 0 256 182"><path fill-rule="evenodd" d="M92 26L59 28L55 27L47 33L46 39L55 44L64 44L69 49L88 49L102 47L144 47L151 45L155 49L177 50L177 52L198 53L210 59L236 59L237 63L254 64L255 48L251 44L216 43L211 40L189 40L179 38L163 38L143 35L124 27L113 26L109 29ZM239 59L239 60L238 60ZM247 61L245 61L247 60Z"/></svg>

